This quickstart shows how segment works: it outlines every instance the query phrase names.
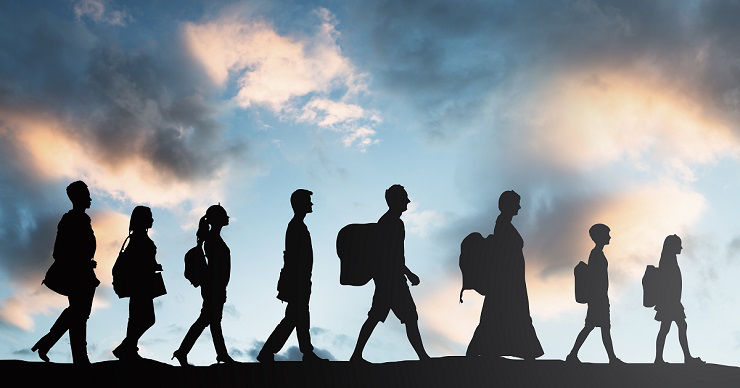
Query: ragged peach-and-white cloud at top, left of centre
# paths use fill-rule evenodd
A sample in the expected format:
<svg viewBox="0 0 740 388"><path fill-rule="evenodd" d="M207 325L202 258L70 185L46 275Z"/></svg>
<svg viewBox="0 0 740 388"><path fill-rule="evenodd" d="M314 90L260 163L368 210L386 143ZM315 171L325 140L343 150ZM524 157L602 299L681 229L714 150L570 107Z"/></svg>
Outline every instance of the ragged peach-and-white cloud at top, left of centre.
<svg viewBox="0 0 740 388"><path fill-rule="evenodd" d="M310 36L279 33L244 8L230 7L203 23L187 23L183 36L211 80L226 87L235 79L234 101L242 108L264 106L283 118L343 134L342 143L360 149L376 142L376 112L357 102L366 75L344 56L334 15L314 12Z"/></svg>

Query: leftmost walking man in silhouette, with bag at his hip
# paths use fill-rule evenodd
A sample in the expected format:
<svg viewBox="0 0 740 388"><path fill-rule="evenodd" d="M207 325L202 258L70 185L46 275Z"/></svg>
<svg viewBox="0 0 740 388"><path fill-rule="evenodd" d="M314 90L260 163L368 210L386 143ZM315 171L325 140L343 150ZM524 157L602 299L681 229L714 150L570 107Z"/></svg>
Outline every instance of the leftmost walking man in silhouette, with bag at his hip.
<svg viewBox="0 0 740 388"><path fill-rule="evenodd" d="M100 281L95 277L95 233L90 217L85 213L92 199L87 185L76 181L67 186L67 197L72 210L62 216L57 226L54 241L54 263L46 273L44 283L69 299L69 307L59 315L49 333L41 337L31 348L39 357L49 361L47 353L64 332L69 330L72 361L78 365L89 365L87 357L87 319L90 317L95 288Z"/></svg>

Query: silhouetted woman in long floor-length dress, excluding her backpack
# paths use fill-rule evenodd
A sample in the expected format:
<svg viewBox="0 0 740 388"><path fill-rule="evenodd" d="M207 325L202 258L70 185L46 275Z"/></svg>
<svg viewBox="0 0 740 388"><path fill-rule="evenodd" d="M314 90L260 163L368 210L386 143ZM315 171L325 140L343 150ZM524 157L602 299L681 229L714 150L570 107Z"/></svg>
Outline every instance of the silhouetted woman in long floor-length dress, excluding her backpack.
<svg viewBox="0 0 740 388"><path fill-rule="evenodd" d="M511 220L519 213L520 196L505 191L493 231L491 284L483 301L480 323L470 340L468 356L515 356L533 360L544 354L529 314L524 279L524 240Z"/></svg>

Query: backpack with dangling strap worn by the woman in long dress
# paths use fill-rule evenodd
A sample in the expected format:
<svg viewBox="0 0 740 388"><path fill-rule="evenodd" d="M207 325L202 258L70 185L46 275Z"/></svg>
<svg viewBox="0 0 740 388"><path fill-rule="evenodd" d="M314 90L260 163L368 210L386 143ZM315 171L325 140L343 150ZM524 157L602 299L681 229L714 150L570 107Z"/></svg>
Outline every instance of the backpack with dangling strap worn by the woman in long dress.
<svg viewBox="0 0 740 388"><path fill-rule="evenodd" d="M470 233L460 244L460 272L463 284L460 288L460 303L465 290L475 290L486 295L487 285L490 282L490 257L493 247L493 236L483 238L478 232Z"/></svg>

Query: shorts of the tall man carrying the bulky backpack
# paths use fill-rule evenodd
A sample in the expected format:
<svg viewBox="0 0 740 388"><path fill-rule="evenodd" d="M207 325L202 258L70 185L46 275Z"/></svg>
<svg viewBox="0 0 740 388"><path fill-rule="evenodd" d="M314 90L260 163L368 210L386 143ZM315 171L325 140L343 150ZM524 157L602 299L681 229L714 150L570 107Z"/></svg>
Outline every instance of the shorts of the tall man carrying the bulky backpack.
<svg viewBox="0 0 740 388"><path fill-rule="evenodd" d="M406 279L390 284L375 283L373 305L367 313L368 317L385 322L391 310L402 323L419 320Z"/></svg>

